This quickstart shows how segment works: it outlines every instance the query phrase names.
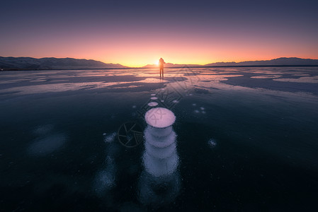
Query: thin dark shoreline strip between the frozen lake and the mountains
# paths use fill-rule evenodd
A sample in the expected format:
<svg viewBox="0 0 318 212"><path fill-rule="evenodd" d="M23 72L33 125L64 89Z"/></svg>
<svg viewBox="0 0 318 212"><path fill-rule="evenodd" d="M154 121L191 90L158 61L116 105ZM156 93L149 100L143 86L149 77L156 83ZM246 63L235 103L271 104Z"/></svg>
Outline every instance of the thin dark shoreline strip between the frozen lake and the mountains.
<svg viewBox="0 0 318 212"><path fill-rule="evenodd" d="M166 67L165 69L183 68L260 68L260 67L318 67L318 65L251 65L251 66L176 66ZM76 70L108 70L108 69L157 69L154 67L127 67L127 68L88 68L88 69L1 69L0 71L76 71ZM159 68L158 68L159 69Z"/></svg>

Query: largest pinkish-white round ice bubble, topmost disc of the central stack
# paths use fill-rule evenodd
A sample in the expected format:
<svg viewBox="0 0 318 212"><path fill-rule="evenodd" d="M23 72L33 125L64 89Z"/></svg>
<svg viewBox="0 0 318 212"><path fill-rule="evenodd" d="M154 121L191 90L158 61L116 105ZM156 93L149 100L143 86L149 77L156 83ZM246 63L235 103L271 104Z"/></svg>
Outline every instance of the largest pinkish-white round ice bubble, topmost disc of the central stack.
<svg viewBox="0 0 318 212"><path fill-rule="evenodd" d="M164 107L156 107L144 114L147 124L156 128L166 128L176 121L174 112Z"/></svg>

